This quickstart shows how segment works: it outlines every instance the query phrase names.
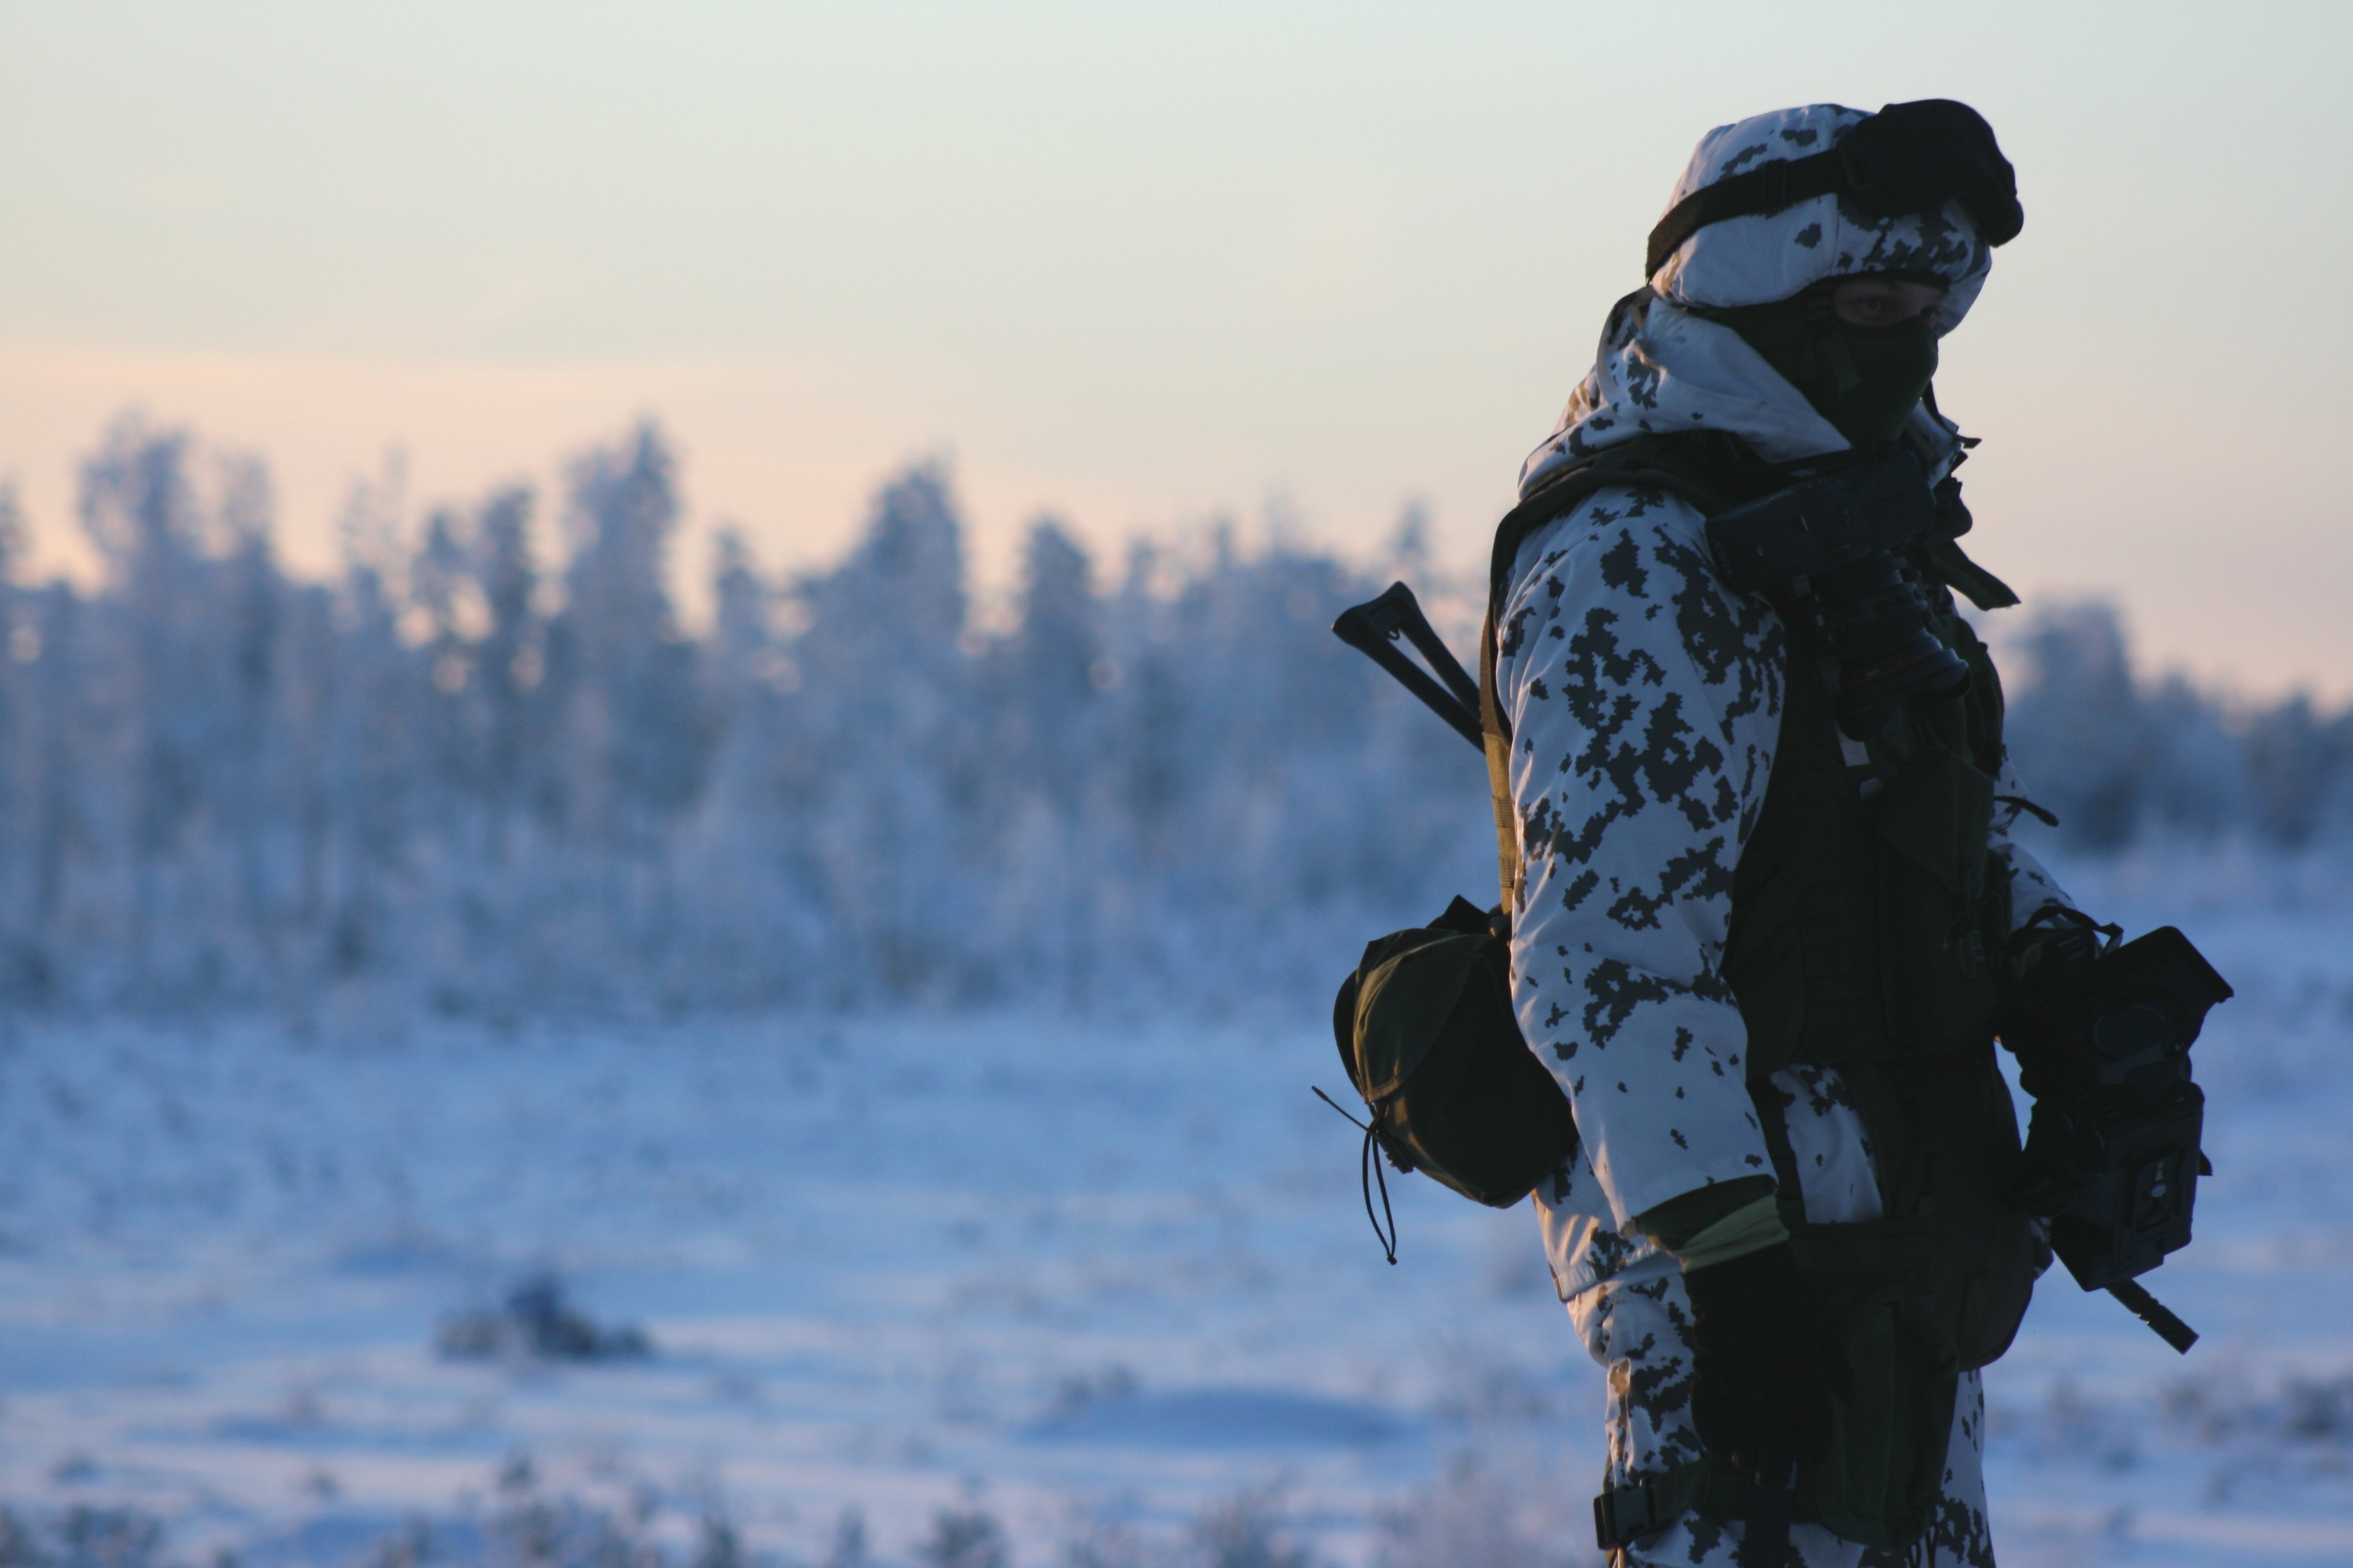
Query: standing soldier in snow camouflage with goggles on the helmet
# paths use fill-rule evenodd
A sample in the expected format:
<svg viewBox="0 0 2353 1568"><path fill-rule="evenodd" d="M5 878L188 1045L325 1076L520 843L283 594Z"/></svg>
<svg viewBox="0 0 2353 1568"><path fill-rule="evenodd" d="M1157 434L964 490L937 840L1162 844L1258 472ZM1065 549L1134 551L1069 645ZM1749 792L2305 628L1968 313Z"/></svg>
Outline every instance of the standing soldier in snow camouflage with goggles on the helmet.
<svg viewBox="0 0 2353 1568"><path fill-rule="evenodd" d="M1497 541L1513 1011L1581 1135L1537 1204L1607 1368L1619 1563L1993 1563L1977 1368L2049 1253L2000 1201L1991 1020L2068 905L2009 839L2033 806L1953 592L2017 599L1951 538L1974 442L1929 378L2019 226L1960 103L1711 132ZM1737 592L1706 534L1892 449L1941 508L1878 583L1944 658L1911 689L1826 583Z"/></svg>

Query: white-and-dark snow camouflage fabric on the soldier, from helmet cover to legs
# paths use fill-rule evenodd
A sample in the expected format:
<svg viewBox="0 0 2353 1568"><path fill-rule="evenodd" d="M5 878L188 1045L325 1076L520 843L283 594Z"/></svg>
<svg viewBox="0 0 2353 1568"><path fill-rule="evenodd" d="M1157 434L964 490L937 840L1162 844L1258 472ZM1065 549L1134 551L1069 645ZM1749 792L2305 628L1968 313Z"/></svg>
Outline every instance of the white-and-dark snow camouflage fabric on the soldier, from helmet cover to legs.
<svg viewBox="0 0 2353 1568"><path fill-rule="evenodd" d="M1715 174L1817 150L1859 118L1814 106L1711 132L1678 200ZM1842 451L1845 437L1734 331L1675 303L1753 303L1833 273L1929 266L1953 282L1939 327L1960 320L1986 270L1965 219L1871 223L1835 207L1819 197L1704 228L1661 268L1657 292L1619 301L1560 430L1522 468L1522 494L1560 461L1647 430L1727 430L1769 461ZM1939 454L1941 477L1958 428L1915 409L1913 430ZM1605 489L1537 529L1499 607L1497 693L1513 733L1522 853L1513 1006L1581 1133L1537 1208L1553 1284L1609 1373L1612 1486L1697 1455L1682 1279L1633 1218L1772 1168L1722 950L1732 877L1779 743L1784 661L1781 618L1722 585L1704 520L1659 489ZM2024 795L2007 764L1998 788ZM2012 912L2024 919L2066 893L2009 842L2014 816L1995 818L1991 844L2012 867ZM1807 1218L1875 1218L1871 1147L1838 1074L1793 1067L1769 1091L1784 1100ZM1955 1436L1965 1441L1948 1455L1934 1561L1991 1563L1974 1378ZM1685 1521L1635 1561L1729 1563L1734 1540ZM1854 1568L1866 1554L1817 1528L1805 1561Z"/></svg>

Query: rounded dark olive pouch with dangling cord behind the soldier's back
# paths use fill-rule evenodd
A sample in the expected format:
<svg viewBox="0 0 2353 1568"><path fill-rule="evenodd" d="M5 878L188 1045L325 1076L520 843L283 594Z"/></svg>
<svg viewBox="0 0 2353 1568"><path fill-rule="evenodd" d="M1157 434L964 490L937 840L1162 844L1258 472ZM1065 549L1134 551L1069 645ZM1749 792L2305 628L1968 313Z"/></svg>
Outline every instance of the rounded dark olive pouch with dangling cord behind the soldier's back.
<svg viewBox="0 0 2353 1568"><path fill-rule="evenodd" d="M1577 1154L1569 1098L1511 1013L1501 912L1457 898L1428 926L1367 943L1332 1004L1332 1037L1400 1171L1511 1208Z"/></svg>

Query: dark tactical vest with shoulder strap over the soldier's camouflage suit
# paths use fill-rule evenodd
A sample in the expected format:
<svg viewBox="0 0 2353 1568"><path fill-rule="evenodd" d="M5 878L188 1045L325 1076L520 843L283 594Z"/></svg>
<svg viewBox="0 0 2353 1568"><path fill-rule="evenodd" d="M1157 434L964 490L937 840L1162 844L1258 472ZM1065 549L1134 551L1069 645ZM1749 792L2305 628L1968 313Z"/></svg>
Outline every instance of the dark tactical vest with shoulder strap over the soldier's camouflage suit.
<svg viewBox="0 0 2353 1568"><path fill-rule="evenodd" d="M1522 867L1511 731L1497 696L1497 628L1511 567L1534 529L1614 487L1671 491L1701 515L1791 480L1725 435L1645 437L1593 454L1497 529L1480 637L1480 710L1497 809L1504 907ZM1988 849L2002 762L2002 691L1946 585L1981 607L2017 597L1948 538L1913 548L1934 588L1934 632L1969 665L1958 696L1915 696L1868 743L1840 733L1821 658L1795 625L1765 804L1732 879L1722 973L1748 1032L1748 1084L1777 1166L1800 1269L1845 1324L1857 1401L1840 1401L1831 1460L1800 1507L1847 1540L1901 1549L1927 1526L1944 1472L1958 1371L2000 1356L2040 1272L2021 1213L2002 1204L2017 1112L1993 1056L1995 964L2009 933L2007 867ZM1809 1225L1767 1079L1831 1065L1857 1100L1880 1166L1882 1220ZM1706 1462L1598 1507L1671 1521L1739 1514L1739 1486ZM1631 1535L1628 1535L1631 1537Z"/></svg>

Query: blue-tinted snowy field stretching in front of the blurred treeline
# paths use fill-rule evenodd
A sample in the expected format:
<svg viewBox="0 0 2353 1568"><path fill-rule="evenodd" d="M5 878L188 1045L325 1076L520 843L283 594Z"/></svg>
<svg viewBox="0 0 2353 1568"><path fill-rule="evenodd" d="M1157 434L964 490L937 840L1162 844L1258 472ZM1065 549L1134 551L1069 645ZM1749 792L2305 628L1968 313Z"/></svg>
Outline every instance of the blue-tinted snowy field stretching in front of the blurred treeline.
<svg viewBox="0 0 2353 1568"><path fill-rule="evenodd" d="M2073 882L2238 985L2151 1286L1988 1375L2002 1561L2353 1563L2353 898ZM1306 1013L19 1023L0 1561L1588 1563L1600 1375L1525 1211L1395 1182ZM555 1274L649 1354L452 1359Z"/></svg>

